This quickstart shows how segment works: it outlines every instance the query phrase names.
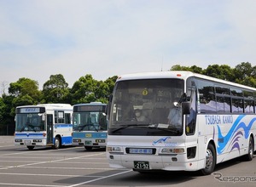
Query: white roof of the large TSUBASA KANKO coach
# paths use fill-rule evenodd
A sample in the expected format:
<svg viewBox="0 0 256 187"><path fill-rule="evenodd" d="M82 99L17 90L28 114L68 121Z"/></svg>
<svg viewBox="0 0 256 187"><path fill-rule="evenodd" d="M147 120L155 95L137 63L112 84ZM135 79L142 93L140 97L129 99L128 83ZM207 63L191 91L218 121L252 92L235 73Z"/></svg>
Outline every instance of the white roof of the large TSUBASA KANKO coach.
<svg viewBox="0 0 256 187"><path fill-rule="evenodd" d="M155 78L178 78L178 79L186 80L189 77L198 77L198 78L209 80L212 82L225 83L234 87L246 88L246 89L256 91L256 88L248 87L248 86L234 83L234 82L224 81L222 79L218 79L214 77L201 75L191 71L152 71L152 72L125 74L125 75L119 76L116 82L126 81L126 80L137 80L137 79L155 79Z"/></svg>

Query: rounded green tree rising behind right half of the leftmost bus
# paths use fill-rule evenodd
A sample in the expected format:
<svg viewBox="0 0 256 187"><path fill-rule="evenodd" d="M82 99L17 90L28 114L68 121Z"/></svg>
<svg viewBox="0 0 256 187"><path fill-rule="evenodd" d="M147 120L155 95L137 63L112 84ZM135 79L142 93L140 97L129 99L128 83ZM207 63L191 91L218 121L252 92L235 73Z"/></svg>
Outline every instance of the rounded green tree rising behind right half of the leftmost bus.
<svg viewBox="0 0 256 187"><path fill-rule="evenodd" d="M68 103L68 83L61 74L51 75L43 86L42 103Z"/></svg>

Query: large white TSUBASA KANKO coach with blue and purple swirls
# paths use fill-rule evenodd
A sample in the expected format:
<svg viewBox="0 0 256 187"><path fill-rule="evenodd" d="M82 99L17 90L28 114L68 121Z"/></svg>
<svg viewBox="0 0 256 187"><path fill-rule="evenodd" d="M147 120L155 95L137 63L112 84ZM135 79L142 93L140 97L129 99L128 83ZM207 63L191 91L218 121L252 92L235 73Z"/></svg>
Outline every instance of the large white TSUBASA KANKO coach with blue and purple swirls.
<svg viewBox="0 0 256 187"><path fill-rule="evenodd" d="M189 71L119 77L108 104L109 165L210 174L238 156L251 161L255 101L256 88Z"/></svg>

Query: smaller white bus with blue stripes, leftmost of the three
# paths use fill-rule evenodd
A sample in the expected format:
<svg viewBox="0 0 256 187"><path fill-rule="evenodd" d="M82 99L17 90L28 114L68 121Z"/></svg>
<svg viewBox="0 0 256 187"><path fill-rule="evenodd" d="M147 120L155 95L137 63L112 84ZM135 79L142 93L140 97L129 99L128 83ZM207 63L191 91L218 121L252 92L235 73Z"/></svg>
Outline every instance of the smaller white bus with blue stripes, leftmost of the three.
<svg viewBox="0 0 256 187"><path fill-rule="evenodd" d="M15 145L72 145L73 107L69 104L23 105L16 108Z"/></svg>

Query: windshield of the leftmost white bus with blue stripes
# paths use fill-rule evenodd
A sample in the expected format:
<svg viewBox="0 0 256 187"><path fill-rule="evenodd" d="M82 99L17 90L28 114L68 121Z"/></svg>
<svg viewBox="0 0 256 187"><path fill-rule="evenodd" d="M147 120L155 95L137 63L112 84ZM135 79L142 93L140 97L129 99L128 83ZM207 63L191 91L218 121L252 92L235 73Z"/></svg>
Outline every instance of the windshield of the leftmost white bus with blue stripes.
<svg viewBox="0 0 256 187"><path fill-rule="evenodd" d="M43 113L19 113L16 114L15 129L16 131L45 131Z"/></svg>

